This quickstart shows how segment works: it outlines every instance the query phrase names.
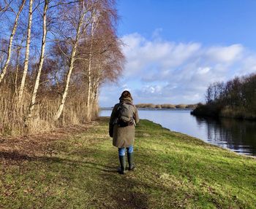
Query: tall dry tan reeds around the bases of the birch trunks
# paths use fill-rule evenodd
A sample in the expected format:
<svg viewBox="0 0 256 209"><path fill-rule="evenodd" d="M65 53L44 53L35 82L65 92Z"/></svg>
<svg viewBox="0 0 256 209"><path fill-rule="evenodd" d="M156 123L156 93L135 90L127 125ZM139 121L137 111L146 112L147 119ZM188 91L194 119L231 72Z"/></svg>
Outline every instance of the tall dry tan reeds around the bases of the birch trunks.
<svg viewBox="0 0 256 209"><path fill-rule="evenodd" d="M86 122L86 102L81 98L67 98L63 114L58 122L53 121L60 97L45 95L40 97L34 108L29 122L26 117L29 113L31 95L24 93L22 106L17 105L15 92L0 89L0 135L26 135L53 130L55 127L66 125L80 125ZM93 119L97 117L97 105L92 109Z"/></svg>

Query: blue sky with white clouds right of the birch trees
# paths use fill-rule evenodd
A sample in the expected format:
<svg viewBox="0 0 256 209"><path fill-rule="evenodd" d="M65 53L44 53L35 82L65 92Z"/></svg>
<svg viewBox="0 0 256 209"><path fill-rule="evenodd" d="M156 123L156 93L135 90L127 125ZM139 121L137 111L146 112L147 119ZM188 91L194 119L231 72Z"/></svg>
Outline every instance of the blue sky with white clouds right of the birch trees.
<svg viewBox="0 0 256 209"><path fill-rule="evenodd" d="M127 58L118 84L105 84L100 106L123 90L135 103L197 103L211 82L256 72L255 0L120 0L118 36Z"/></svg>

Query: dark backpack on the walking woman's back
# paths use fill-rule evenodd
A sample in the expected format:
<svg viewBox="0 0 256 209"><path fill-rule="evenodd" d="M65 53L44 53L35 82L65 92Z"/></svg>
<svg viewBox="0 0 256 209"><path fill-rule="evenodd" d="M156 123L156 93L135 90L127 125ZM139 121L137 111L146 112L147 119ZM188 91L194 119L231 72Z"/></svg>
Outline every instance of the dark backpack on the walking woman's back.
<svg viewBox="0 0 256 209"><path fill-rule="evenodd" d="M120 103L117 109L117 118L119 127L134 125L134 107L132 103Z"/></svg>

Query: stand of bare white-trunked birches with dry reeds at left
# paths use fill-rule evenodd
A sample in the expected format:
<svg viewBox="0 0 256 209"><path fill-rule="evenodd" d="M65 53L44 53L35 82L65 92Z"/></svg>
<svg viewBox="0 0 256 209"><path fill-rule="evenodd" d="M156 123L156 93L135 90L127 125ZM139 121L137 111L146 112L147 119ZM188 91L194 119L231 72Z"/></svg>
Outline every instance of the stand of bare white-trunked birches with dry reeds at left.
<svg viewBox="0 0 256 209"><path fill-rule="evenodd" d="M0 135L97 116L124 66L114 0L0 0Z"/></svg>

